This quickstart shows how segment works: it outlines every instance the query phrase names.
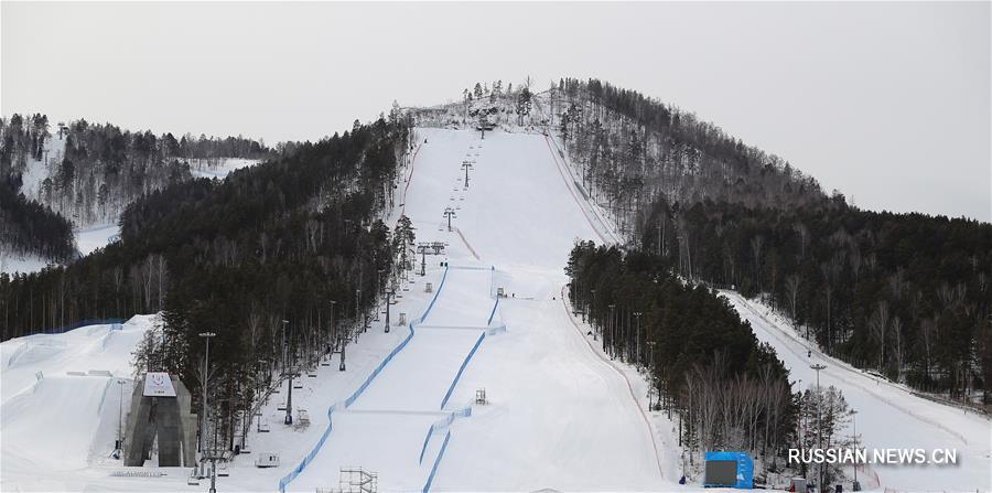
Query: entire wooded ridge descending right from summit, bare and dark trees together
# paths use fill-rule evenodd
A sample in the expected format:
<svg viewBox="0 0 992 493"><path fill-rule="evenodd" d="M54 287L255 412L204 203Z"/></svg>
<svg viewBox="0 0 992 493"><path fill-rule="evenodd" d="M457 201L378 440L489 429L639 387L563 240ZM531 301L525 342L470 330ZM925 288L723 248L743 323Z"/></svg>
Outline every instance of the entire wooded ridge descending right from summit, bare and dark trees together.
<svg viewBox="0 0 992 493"><path fill-rule="evenodd" d="M992 226L861 211L712 124L637 92L562 79L554 125L628 245L684 278L766 292L829 353L916 388L992 378ZM659 247L660 245L660 247Z"/></svg>

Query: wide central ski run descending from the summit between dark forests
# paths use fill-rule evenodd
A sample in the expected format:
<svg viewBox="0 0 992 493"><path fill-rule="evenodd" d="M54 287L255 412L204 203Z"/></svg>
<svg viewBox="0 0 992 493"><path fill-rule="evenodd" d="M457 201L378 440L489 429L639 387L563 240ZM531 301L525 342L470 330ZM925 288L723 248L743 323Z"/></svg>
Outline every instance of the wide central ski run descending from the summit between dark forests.
<svg viewBox="0 0 992 493"><path fill-rule="evenodd" d="M653 430L624 376L586 344L559 299L574 242L602 243L606 228L578 199L548 140L507 132L479 140L478 132L441 129L417 129L417 139L420 148L400 202L418 242L449 245L452 268L433 311L414 326L410 345L354 406L389 410L377 418L395 421L388 428L395 433L386 446L389 457L376 457L385 465L378 469L380 487L421 487L425 470L413 468L418 454L408 458L393 450L408 451L412 444L419 451L423 432L417 437L412 431L429 420L418 422L427 416L403 411L440 410L439 383L453 382L455 363L471 354L446 409L470 405L479 388L490 404L473 405L472 416L451 424L443 456L434 452L444 443L440 437L429 442L425 458L440 457L432 490L671 489L677 478L662 476ZM467 189L466 160L473 161ZM451 232L445 207L456 214ZM495 288L508 298L494 312ZM506 330L484 337L472 354L470 343L488 317ZM355 419L342 420L342 429L362 427L352 425ZM304 472L301 486L316 485L320 475L324 485L334 484L328 474L335 465L362 459L341 450L366 448L368 436L355 433L356 442L347 438L351 431L335 432L325 446L328 451L322 452L326 461L319 456L314 463L324 472ZM410 443L413 438L418 441ZM387 453L378 446L376 450ZM390 476L397 473L416 480L396 482Z"/></svg>

